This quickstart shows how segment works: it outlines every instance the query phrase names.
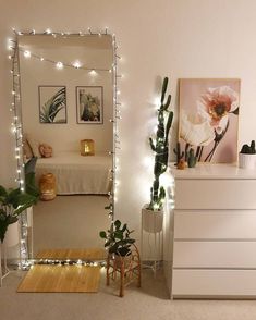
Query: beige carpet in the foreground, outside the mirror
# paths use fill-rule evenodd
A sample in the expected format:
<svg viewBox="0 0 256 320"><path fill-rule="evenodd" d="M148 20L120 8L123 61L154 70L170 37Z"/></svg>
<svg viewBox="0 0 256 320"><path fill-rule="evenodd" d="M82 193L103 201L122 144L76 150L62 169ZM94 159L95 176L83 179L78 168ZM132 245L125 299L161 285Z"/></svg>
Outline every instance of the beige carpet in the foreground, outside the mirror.
<svg viewBox="0 0 256 320"><path fill-rule="evenodd" d="M3 320L255 320L255 300L170 300L162 273L143 270L142 288L105 285L97 294L16 293L24 272L12 272L0 288Z"/></svg>

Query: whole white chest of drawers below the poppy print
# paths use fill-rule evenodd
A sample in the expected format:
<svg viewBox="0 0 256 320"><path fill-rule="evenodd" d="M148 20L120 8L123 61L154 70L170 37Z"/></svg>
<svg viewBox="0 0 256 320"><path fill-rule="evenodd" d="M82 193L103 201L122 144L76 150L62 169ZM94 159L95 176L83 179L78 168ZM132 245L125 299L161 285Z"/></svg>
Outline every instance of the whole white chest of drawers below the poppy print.
<svg viewBox="0 0 256 320"><path fill-rule="evenodd" d="M172 172L172 297L256 297L256 171L198 164Z"/></svg>

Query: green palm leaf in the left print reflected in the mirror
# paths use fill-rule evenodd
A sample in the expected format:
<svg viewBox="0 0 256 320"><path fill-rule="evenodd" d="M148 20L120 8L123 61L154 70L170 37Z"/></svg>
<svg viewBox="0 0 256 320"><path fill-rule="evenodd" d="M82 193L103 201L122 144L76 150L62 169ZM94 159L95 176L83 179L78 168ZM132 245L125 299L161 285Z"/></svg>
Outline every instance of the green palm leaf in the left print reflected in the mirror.
<svg viewBox="0 0 256 320"><path fill-rule="evenodd" d="M57 114L65 108L65 88L58 90L47 102L40 111L40 122L64 122L63 119L56 121Z"/></svg>

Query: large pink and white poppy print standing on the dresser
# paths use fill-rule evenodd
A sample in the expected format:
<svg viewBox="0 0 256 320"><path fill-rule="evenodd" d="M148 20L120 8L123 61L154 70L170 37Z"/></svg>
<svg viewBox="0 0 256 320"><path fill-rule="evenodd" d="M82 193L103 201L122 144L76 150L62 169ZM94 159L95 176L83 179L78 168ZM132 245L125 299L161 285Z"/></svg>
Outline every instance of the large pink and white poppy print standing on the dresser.
<svg viewBox="0 0 256 320"><path fill-rule="evenodd" d="M186 157L193 148L198 161L237 160L240 79L180 79L179 141Z"/></svg>

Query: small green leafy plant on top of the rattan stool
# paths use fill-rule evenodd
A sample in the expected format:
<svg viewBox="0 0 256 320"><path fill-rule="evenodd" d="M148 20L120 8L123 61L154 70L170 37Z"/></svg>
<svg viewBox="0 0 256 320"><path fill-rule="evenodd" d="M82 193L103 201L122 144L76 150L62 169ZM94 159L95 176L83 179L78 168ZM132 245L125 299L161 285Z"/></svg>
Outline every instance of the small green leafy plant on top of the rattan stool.
<svg viewBox="0 0 256 320"><path fill-rule="evenodd" d="M99 236L106 239L105 247L109 254L126 256L130 253L130 246L135 243L135 239L130 237L132 232L133 230L130 231L126 223L122 225L120 220L115 220L107 232L100 231Z"/></svg>

